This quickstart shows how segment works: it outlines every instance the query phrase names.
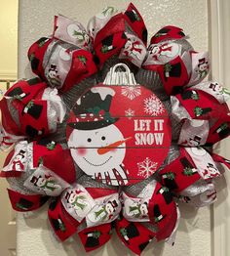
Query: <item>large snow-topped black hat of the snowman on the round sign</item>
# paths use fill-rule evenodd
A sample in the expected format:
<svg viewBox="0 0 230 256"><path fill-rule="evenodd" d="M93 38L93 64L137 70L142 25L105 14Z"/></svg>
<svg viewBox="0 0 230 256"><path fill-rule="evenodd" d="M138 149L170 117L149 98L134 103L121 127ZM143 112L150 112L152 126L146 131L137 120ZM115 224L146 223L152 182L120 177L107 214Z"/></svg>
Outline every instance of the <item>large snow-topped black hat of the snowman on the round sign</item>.
<svg viewBox="0 0 230 256"><path fill-rule="evenodd" d="M118 118L109 112L114 95L115 91L108 86L93 87L73 107L76 121L68 125L78 130L95 130L115 123Z"/></svg>

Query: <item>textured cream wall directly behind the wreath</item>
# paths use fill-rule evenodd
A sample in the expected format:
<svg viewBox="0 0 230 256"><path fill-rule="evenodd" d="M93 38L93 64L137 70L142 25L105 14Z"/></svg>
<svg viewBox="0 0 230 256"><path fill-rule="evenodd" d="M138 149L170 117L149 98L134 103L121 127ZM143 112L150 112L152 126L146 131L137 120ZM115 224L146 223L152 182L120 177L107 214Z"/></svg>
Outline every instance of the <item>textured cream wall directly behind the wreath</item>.
<svg viewBox="0 0 230 256"><path fill-rule="evenodd" d="M206 0L134 0L149 31L149 35L160 27L174 24L184 28L191 37L190 42L198 51L208 50L208 7ZM87 24L96 12L107 5L125 9L126 0L20 0L19 1L19 77L29 77L26 52L32 42L51 34L54 15L62 14ZM180 205L181 206L181 205ZM182 205L181 221L173 247L163 242L151 244L143 255L154 256L210 256L211 255L211 210L209 207L196 210ZM73 256L84 255L79 238L58 243L47 221L47 209L24 218L18 216L18 256ZM89 255L132 255L113 235L105 247Z"/></svg>

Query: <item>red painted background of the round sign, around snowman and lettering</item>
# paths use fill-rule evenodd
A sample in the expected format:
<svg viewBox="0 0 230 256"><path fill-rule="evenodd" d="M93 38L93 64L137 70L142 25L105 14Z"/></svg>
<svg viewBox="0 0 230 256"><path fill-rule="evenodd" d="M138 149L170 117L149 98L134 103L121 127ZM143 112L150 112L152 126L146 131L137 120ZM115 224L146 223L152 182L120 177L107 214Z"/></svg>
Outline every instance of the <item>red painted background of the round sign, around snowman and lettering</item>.
<svg viewBox="0 0 230 256"><path fill-rule="evenodd" d="M96 87L102 87L106 85L97 85ZM117 117L117 120L114 125L120 129L124 138L132 137L131 140L126 142L126 155L124 158L125 169L128 170L128 178L129 182L126 185L131 185L138 183L145 178L145 175L138 175L138 163L143 163L143 168L146 166L146 170L149 167L149 164L152 162L156 162L155 167L150 168L150 173L153 169L158 169L166 158L172 139L172 127L171 120L169 118L168 112L163 106L162 103L159 103L160 100L148 89L143 86L136 85L140 94L134 95L134 99L131 100L127 95L124 95L124 90L129 89L130 86L109 86L115 91L115 96L112 98L111 106L109 112L112 117ZM135 87L136 87L135 86ZM94 87L94 88L96 88ZM134 88L134 86L132 86ZM135 88L136 89L136 88ZM157 101L162 108L162 111L157 115L151 115L150 112L146 112L144 108L146 107L146 100L153 98L155 102ZM126 116L126 110L132 109L134 110L134 116ZM134 119L141 120L151 120L150 131L134 131ZM163 131L155 131L154 130L154 120L155 119L163 119ZM71 111L69 115L68 122L72 122L76 120L76 116ZM71 133L71 128L67 125L66 135L67 138ZM164 139L162 145L135 145L135 133L164 133ZM115 139L115 138L114 138ZM116 139L114 140L116 142ZM149 162L146 162L149 160ZM84 170L83 170L84 171ZM106 171L106 170L105 170Z"/></svg>

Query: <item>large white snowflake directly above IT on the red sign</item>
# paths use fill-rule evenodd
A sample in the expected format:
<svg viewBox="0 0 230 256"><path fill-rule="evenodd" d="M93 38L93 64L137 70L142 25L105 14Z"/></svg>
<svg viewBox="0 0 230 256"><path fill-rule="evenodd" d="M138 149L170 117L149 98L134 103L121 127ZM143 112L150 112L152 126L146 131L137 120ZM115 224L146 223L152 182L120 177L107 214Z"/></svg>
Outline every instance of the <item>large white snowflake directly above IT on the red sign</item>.
<svg viewBox="0 0 230 256"><path fill-rule="evenodd" d="M144 111L156 116L163 113L165 108L162 102L155 95L152 95L150 98L144 100Z"/></svg>

